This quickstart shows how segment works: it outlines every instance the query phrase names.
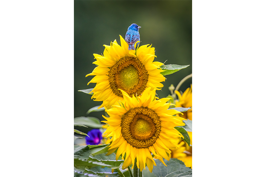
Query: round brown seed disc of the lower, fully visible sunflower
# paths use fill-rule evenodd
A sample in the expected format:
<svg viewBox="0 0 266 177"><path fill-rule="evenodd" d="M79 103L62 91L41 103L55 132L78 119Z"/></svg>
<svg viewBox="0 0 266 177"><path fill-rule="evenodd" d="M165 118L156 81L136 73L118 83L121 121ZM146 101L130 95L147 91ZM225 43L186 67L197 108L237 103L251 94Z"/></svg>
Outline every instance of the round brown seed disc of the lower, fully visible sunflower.
<svg viewBox="0 0 266 177"><path fill-rule="evenodd" d="M148 148L160 135L159 116L147 107L130 109L121 119L121 133L133 147Z"/></svg>

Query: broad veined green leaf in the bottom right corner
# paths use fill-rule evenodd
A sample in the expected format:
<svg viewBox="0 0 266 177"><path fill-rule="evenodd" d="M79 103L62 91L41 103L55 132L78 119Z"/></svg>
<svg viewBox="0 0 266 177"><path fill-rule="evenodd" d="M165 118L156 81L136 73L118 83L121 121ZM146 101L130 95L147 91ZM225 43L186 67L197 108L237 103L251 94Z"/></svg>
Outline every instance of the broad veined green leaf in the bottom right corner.
<svg viewBox="0 0 266 177"><path fill-rule="evenodd" d="M192 177L192 169L186 167L185 165L181 165L180 163L176 163L174 160L166 160L163 159L165 166L160 162L159 159L155 159L155 163L157 166L153 167L153 173L156 177Z"/></svg>

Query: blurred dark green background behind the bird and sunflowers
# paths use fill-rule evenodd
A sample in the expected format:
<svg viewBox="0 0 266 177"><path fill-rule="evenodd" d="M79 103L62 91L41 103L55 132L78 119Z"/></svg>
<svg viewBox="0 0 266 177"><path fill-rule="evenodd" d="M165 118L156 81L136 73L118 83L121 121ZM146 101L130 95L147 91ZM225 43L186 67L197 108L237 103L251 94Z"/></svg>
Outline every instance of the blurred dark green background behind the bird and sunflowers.
<svg viewBox="0 0 266 177"><path fill-rule="evenodd" d="M171 94L168 87L177 84L192 73L192 1L74 1L74 117L90 116L103 120L103 112L86 114L88 109L102 104L91 95L78 90L93 88L87 83L93 76L85 77L96 67L93 53L103 53L103 45L110 45L119 35L125 37L127 28L136 23L141 26L141 44L155 47L154 61L167 64L190 65L165 76L159 98ZM192 83L187 80L179 90L185 91Z"/></svg>

